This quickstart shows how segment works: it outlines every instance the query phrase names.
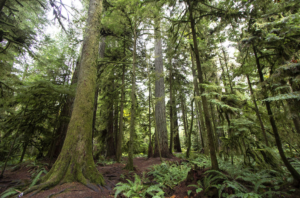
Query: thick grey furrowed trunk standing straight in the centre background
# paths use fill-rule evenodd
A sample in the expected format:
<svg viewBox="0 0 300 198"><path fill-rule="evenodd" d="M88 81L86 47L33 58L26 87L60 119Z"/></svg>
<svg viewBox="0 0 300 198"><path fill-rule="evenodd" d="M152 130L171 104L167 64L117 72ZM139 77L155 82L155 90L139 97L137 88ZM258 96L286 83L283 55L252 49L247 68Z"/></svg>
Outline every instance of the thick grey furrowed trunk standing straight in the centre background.
<svg viewBox="0 0 300 198"><path fill-rule="evenodd" d="M159 21L156 20L155 24L159 29ZM168 133L167 133L167 120L166 120L166 104L165 104L165 84L164 84L164 70L163 70L163 54L161 46L161 36L158 30L155 30L155 41L154 41L154 56L155 56L155 119L156 119L156 130L161 148L161 156L170 158L168 147ZM154 157L158 157L158 142L155 141Z"/></svg>

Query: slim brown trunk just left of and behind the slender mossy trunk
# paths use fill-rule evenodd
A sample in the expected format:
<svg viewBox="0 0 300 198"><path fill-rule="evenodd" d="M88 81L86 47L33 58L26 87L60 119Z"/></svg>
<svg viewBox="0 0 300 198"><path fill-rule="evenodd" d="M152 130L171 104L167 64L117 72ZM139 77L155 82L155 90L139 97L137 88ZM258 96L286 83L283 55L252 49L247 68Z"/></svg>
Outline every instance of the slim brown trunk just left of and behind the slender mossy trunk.
<svg viewBox="0 0 300 198"><path fill-rule="evenodd" d="M122 91L121 91L121 104L120 104L120 121L119 121L119 133L118 133L118 141L117 141L117 149L116 149L116 159L117 162L121 161L122 157L122 141L123 141L123 111L124 111L124 84L125 84L125 64L122 68Z"/></svg>

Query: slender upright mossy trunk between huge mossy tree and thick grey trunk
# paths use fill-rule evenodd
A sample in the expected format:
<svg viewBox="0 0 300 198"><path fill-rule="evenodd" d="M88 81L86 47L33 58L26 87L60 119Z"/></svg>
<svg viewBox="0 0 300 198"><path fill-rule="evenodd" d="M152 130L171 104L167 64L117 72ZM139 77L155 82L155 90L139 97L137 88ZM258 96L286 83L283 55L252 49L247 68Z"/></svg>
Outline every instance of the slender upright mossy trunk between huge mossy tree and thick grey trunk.
<svg viewBox="0 0 300 198"><path fill-rule="evenodd" d="M137 18L134 18L133 24L133 55L132 55L132 76L131 76L131 115L130 115L130 136L129 136L129 147L128 147L128 161L125 169L130 171L134 170L133 166L133 144L134 144L134 114L135 114L135 67L136 67L136 51L137 51Z"/></svg>

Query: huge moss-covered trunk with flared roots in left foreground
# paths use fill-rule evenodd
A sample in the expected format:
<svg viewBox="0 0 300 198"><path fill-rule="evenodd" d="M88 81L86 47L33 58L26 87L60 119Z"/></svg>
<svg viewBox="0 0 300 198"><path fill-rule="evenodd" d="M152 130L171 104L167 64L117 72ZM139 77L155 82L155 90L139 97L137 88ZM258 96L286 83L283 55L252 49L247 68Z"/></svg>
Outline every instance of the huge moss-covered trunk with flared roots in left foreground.
<svg viewBox="0 0 300 198"><path fill-rule="evenodd" d="M42 178L42 183L29 188L24 194L71 181L78 181L96 191L98 188L91 183L104 184L103 176L95 167L91 146L101 12L102 0L90 0L74 108L61 153L52 169Z"/></svg>

